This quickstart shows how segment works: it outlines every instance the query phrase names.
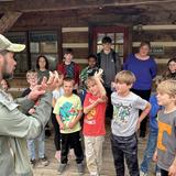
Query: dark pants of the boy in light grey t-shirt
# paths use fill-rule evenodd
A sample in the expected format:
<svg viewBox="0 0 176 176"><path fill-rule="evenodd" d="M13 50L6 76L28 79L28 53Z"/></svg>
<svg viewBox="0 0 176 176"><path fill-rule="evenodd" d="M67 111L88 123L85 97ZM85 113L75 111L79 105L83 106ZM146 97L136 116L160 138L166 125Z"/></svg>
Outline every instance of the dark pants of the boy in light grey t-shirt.
<svg viewBox="0 0 176 176"><path fill-rule="evenodd" d="M136 134L134 133L131 136L117 136L112 134L111 144L117 176L124 176L124 158L130 176L140 176Z"/></svg>

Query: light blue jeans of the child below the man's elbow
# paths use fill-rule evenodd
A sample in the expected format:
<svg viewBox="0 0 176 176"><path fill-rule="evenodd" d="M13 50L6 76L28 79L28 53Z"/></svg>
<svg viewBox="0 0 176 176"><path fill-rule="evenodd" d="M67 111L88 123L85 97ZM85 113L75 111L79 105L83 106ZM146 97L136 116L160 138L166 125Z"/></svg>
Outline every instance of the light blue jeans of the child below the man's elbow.
<svg viewBox="0 0 176 176"><path fill-rule="evenodd" d="M38 147L38 158L43 158L45 156L45 131L43 130L42 133L35 140L28 140L28 148L30 152L31 160L35 160L35 142L37 141Z"/></svg>

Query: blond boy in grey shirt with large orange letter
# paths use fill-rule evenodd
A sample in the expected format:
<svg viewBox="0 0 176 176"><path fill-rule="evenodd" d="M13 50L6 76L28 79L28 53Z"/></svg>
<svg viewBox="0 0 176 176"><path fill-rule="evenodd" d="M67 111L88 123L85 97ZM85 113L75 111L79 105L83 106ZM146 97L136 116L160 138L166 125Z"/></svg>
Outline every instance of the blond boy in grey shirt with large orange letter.
<svg viewBox="0 0 176 176"><path fill-rule="evenodd" d="M157 150L154 161L162 176L176 176L176 80L162 81L157 89L158 113Z"/></svg>

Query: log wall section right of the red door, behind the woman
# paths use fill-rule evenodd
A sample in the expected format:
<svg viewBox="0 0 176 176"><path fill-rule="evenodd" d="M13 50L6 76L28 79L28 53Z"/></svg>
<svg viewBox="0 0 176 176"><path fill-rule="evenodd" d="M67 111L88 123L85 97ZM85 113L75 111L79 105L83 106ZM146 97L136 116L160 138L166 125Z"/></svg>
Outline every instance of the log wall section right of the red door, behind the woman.
<svg viewBox="0 0 176 176"><path fill-rule="evenodd" d="M140 29L139 29L140 28ZM166 70L168 59L176 56L176 25L142 25L134 26L132 50L138 51L141 41L150 41L153 57L158 67L158 75Z"/></svg>

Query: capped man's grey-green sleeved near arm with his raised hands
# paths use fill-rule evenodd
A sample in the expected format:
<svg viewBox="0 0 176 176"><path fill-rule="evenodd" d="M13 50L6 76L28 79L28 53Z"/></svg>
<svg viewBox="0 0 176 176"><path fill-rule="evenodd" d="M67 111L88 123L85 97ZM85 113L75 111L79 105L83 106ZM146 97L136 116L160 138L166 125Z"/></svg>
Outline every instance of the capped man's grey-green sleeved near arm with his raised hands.
<svg viewBox="0 0 176 176"><path fill-rule="evenodd" d="M41 96L40 105L36 107L36 111L33 116L28 117L23 114L13 102L7 101L4 103L1 100L0 135L35 139L44 129L51 117L51 91L55 89L56 82L56 76L52 76L47 82L43 80L42 85L36 86L36 88L30 92L28 98L31 100L36 100Z"/></svg>

